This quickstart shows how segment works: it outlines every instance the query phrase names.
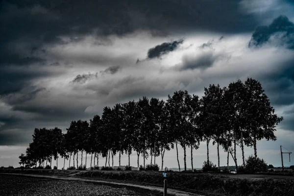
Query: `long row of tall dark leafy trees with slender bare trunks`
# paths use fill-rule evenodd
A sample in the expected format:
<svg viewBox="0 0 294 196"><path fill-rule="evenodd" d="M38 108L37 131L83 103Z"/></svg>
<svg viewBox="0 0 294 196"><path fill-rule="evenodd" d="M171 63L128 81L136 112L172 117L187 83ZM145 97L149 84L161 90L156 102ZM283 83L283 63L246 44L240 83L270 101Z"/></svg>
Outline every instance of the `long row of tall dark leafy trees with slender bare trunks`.
<svg viewBox="0 0 294 196"><path fill-rule="evenodd" d="M163 169L166 150L176 148L178 167L178 146L184 150L184 168L186 170L186 149L191 149L191 164L193 170L193 149L199 147L200 142L207 145L207 163L209 161L209 143L217 146L218 167L220 167L220 147L227 152L227 167L231 154L236 168L236 147L242 149L243 165L245 164L244 146L254 147L257 157L256 142L261 139L276 140L274 131L283 117L277 117L270 105L270 100L264 93L259 81L247 78L232 82L228 87L209 85L204 88L204 96L199 98L187 91L176 91L168 96L167 101L158 98L140 98L116 104L112 108L104 107L100 116L96 115L89 122L72 121L67 132L61 129L35 128L33 142L26 149L26 155L20 156L20 164L26 167L46 165L52 158L59 156L69 159L69 167L73 157L73 167L83 165L83 153L91 155L91 168L94 156L94 166L98 166L98 157L106 157L105 167L110 167L110 158L119 155L128 156L137 153L142 156L146 166L146 159L161 157ZM78 152L81 152L81 162L78 164ZM76 157L76 160L75 160ZM95 161L97 162L95 163ZM85 164L87 158L85 160ZM65 165L63 166L63 168Z"/></svg>

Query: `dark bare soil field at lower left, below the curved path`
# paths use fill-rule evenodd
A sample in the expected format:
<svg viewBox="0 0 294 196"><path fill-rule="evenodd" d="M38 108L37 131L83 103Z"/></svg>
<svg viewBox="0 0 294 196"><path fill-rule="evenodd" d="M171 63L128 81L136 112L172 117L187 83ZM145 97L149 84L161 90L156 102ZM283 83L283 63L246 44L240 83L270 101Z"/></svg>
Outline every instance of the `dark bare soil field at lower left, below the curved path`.
<svg viewBox="0 0 294 196"><path fill-rule="evenodd" d="M0 174L0 196L162 196L162 193L93 182Z"/></svg>

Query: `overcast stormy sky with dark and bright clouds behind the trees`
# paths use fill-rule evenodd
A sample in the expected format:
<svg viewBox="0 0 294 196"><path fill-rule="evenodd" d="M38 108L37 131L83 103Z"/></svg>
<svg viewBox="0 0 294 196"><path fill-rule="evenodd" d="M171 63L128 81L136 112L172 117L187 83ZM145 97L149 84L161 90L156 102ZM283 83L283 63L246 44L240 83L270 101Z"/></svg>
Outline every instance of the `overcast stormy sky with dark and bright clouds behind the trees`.
<svg viewBox="0 0 294 196"><path fill-rule="evenodd" d="M0 165L18 166L35 127L65 132L104 106L178 90L201 97L247 77L284 117L258 156L280 166L280 145L294 152L294 0L3 0L0 26ZM205 156L201 143L194 166ZM174 150L165 163L177 166Z"/></svg>

